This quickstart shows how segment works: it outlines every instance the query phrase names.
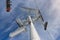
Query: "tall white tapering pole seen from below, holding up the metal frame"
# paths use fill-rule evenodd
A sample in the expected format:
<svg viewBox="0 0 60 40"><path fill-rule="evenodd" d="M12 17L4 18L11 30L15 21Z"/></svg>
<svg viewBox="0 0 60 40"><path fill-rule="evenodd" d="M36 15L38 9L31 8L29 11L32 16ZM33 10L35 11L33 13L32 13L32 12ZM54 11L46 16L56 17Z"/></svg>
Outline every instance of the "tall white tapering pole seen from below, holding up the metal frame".
<svg viewBox="0 0 60 40"><path fill-rule="evenodd" d="M32 22L31 17L29 16L29 21L30 21L30 36L31 36L31 40L41 40L35 27L34 24Z"/></svg>

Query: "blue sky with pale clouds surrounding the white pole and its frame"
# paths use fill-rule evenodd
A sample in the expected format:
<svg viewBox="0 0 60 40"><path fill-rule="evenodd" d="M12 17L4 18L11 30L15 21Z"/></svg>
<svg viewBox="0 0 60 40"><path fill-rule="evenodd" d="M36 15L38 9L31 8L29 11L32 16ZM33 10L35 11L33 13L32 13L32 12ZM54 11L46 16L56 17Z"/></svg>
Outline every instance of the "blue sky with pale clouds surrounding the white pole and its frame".
<svg viewBox="0 0 60 40"><path fill-rule="evenodd" d="M15 20L21 16L26 17L20 7L38 8L45 21L48 21L47 30L44 31L39 21L34 23L41 40L60 40L60 0L11 0L11 11L6 12L6 0L0 0L0 40L30 40L30 29L27 32L10 38L9 33L18 28Z"/></svg>

